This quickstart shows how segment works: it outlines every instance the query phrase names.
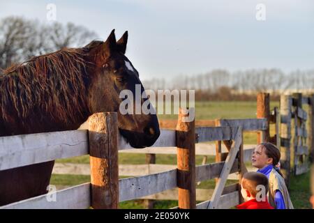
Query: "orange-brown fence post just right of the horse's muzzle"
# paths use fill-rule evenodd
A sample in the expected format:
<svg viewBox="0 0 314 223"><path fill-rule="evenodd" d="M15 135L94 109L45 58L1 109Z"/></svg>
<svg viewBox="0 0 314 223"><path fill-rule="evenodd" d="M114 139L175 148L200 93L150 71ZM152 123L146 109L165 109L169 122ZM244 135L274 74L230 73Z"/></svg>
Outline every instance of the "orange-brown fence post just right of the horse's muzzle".
<svg viewBox="0 0 314 223"><path fill-rule="evenodd" d="M194 109L179 109L177 123L177 185L179 208L196 208L195 192L195 120L184 122Z"/></svg>

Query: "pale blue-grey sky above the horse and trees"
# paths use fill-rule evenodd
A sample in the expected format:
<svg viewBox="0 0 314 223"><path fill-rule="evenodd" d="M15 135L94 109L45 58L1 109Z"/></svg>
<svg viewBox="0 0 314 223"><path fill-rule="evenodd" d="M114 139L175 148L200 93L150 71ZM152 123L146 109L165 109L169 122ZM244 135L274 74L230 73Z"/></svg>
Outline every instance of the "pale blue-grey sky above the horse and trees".
<svg viewBox="0 0 314 223"><path fill-rule="evenodd" d="M313 0L0 0L0 19L50 22L48 3L57 22L86 26L100 39L127 30L126 56L143 80L213 69L314 68Z"/></svg>

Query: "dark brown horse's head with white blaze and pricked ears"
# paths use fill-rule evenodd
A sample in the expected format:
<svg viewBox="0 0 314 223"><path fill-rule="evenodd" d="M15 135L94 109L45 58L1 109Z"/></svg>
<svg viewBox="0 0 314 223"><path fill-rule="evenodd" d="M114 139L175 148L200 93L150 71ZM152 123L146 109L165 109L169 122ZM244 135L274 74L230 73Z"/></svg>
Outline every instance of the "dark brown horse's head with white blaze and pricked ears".
<svg viewBox="0 0 314 223"><path fill-rule="evenodd" d="M117 112L118 128L121 135L127 139L134 148L144 148L154 144L158 139L160 130L156 112L143 114L134 112L137 106L135 91L144 93L144 87L139 78L139 73L126 57L126 44L128 32L117 41L114 30L103 41L92 41L85 46L87 49L86 60L91 64L87 67L90 83L87 88L87 106L91 114L96 112ZM127 91L128 100L133 100L121 111L121 103L126 98L121 98L121 92ZM148 98L140 99L140 107L149 104L150 110L154 110ZM129 106L129 107L128 107ZM142 110L141 110L142 111Z"/></svg>

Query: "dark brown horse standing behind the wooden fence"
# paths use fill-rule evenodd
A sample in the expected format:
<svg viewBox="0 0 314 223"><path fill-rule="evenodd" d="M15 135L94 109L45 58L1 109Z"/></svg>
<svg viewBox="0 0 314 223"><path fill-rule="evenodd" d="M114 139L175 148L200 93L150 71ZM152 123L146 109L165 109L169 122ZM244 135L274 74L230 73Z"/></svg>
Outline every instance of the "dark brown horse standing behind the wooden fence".
<svg viewBox="0 0 314 223"><path fill-rule="evenodd" d="M0 73L0 136L75 130L91 114L118 112L119 131L131 146L154 144L160 134L156 114L119 111L122 90L135 93L140 84L144 91L124 55L127 40L126 32L116 41L113 30L105 42L37 56ZM53 166L50 161L0 171L0 206L45 194Z"/></svg>

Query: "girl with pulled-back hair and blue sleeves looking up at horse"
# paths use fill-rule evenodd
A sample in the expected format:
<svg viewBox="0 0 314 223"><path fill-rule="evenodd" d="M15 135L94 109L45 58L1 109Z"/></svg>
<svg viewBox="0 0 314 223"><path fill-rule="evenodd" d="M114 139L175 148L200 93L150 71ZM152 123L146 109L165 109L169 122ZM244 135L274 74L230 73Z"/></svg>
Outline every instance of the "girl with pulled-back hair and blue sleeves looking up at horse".
<svg viewBox="0 0 314 223"><path fill-rule="evenodd" d="M252 166L269 178L269 203L276 209L293 209L281 171L276 167L281 158L279 149L271 143L256 146Z"/></svg>

